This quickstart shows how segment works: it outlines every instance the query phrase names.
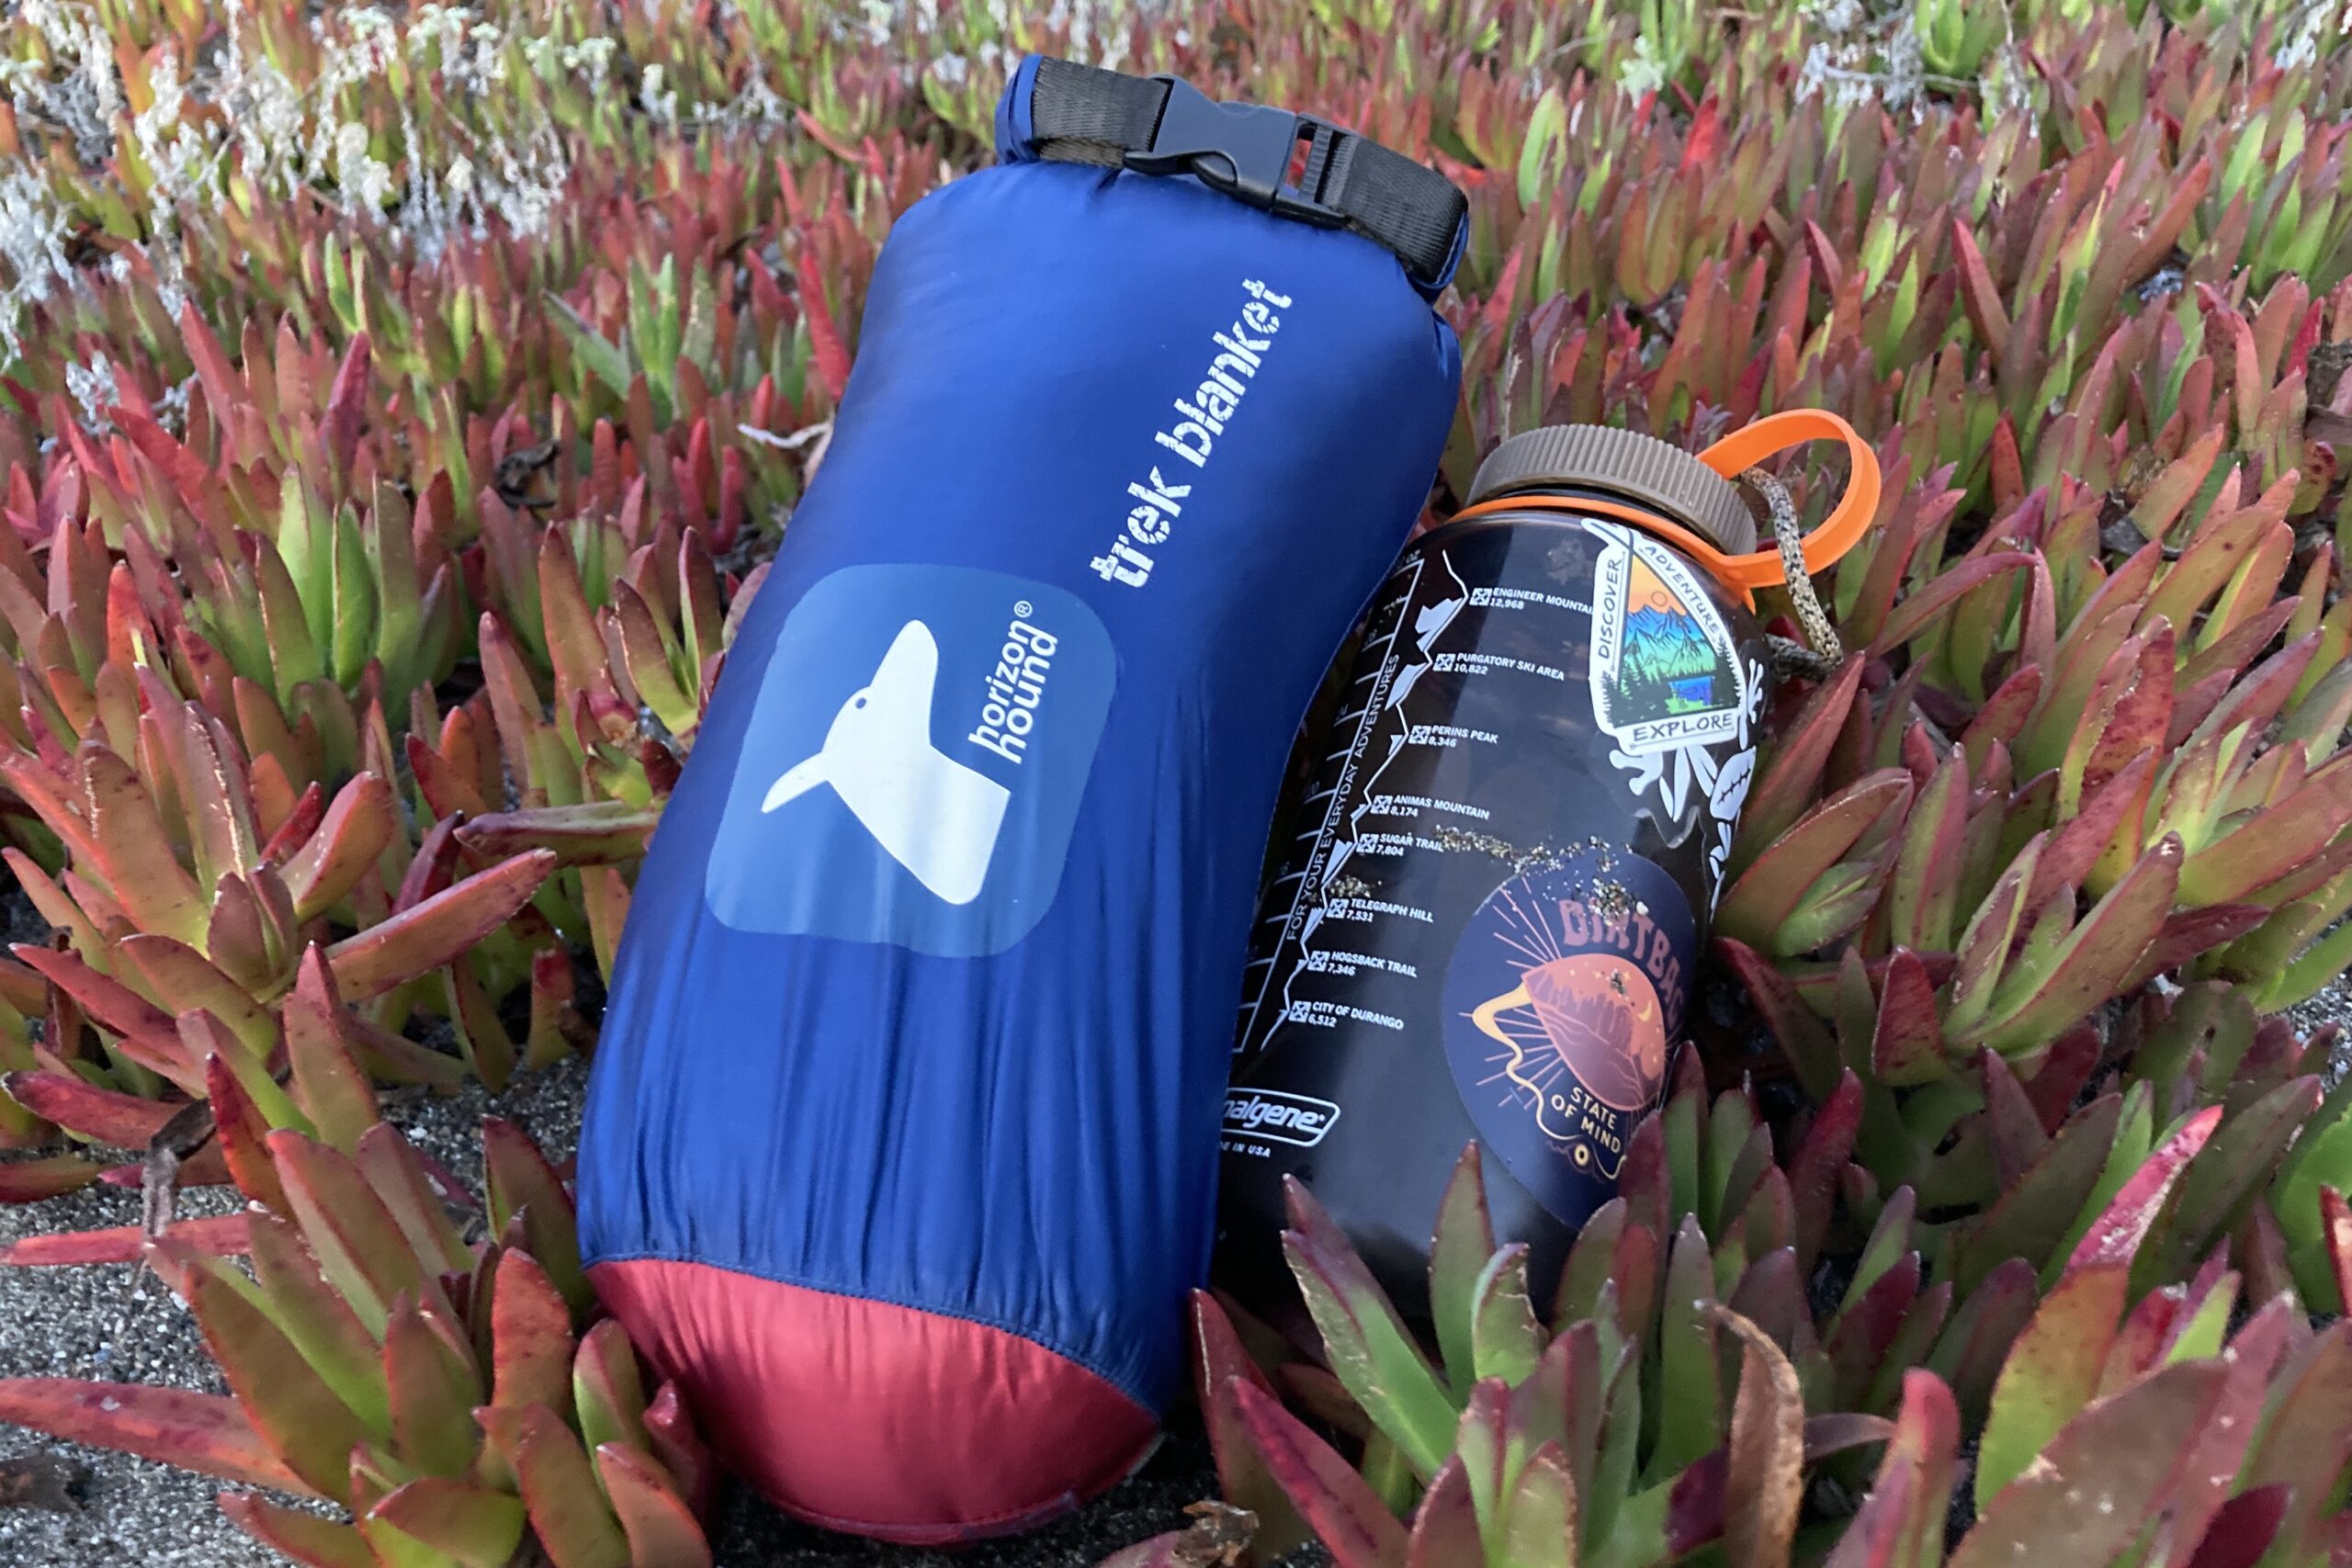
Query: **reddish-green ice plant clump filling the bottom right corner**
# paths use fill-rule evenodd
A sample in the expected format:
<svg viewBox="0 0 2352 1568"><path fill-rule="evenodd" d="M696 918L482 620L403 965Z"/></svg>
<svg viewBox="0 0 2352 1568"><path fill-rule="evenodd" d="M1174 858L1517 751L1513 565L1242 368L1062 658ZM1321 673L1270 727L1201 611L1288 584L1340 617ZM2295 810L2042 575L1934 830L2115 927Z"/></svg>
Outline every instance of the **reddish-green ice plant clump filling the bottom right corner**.
<svg viewBox="0 0 2352 1568"><path fill-rule="evenodd" d="M2122 1213L2147 1213L2164 1180L2159 1154L2067 1260L2002 1366L1973 1479L1952 1392L1931 1371L1905 1375L1877 1481L1832 1563L2042 1552L2133 1563L2150 1530L2185 1561L2331 1561L2352 1526L2340 1512L2352 1331L2314 1331L2293 1298L2234 1312L2241 1281L2218 1258L2190 1286L2129 1305L2143 1232ZM1955 1493L1969 1493L1973 1526L1947 1549Z"/></svg>

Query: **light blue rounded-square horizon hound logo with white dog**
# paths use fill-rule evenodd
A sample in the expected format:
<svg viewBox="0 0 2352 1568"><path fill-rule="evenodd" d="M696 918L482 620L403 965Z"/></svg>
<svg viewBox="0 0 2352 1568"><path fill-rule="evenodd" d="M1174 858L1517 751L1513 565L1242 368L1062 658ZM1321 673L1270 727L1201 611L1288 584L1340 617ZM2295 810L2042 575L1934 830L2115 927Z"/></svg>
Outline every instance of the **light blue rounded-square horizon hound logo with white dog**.
<svg viewBox="0 0 2352 1568"><path fill-rule="evenodd" d="M703 872L722 924L936 957L1037 926L1110 712L1084 602L974 567L844 567L757 679Z"/></svg>

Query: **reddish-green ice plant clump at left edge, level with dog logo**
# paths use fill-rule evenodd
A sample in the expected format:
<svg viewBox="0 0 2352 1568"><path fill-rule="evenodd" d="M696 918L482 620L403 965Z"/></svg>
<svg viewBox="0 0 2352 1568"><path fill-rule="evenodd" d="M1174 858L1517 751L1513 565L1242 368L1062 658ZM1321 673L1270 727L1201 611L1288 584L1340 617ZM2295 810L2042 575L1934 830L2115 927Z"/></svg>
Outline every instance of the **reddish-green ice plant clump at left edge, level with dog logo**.
<svg viewBox="0 0 2352 1568"><path fill-rule="evenodd" d="M346 999L381 999L445 966L470 971L475 945L510 922L555 865L550 851L532 849L452 882L449 856L437 867L393 860L400 875L388 893L386 860L402 846L379 776L355 776L327 806L313 790L263 842L242 757L200 708L158 696L132 741L155 766L155 785L96 738L56 771L26 755L0 762L66 846L54 879L31 856L5 853L59 931L56 945L16 947L52 987L45 1039L26 1065L78 1091L47 1095L40 1114L82 1138L146 1143L172 1114L167 1095L209 1093L216 1060L263 1093L296 1034L287 999L303 976L313 1009L343 1018ZM158 797L179 806L172 825ZM367 903L362 886L379 900L374 919L353 910ZM339 914L362 929L336 936ZM350 1016L369 1072L452 1081L459 1063L386 1023L400 1018L383 1006ZM12 1098L26 1105L26 1095ZM122 1098L153 1107L120 1107Z"/></svg>

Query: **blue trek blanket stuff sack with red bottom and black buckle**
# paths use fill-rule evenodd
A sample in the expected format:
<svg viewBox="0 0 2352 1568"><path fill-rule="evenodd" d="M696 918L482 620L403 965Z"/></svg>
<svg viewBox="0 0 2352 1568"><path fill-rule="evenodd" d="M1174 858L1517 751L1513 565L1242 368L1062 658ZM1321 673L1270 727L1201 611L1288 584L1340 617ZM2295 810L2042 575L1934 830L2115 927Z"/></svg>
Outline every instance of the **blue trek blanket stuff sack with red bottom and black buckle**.
<svg viewBox="0 0 2352 1568"><path fill-rule="evenodd" d="M910 1542L1150 1453L1284 757L1461 383L1463 197L1411 160L1040 59L1000 155L875 266L579 1159L593 1279L722 1458Z"/></svg>

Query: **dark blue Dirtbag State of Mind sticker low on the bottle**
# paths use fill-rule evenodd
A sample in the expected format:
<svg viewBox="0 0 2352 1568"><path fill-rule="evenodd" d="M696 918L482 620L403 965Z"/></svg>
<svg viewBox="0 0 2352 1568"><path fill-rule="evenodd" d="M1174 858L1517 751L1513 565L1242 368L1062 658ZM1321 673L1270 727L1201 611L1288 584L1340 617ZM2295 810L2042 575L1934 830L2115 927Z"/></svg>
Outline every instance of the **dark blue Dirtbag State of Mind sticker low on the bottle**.
<svg viewBox="0 0 2352 1568"><path fill-rule="evenodd" d="M1696 947L1675 879L1623 851L1510 877L1454 945L1454 1086L1486 1147L1564 1225L1609 1201L1665 1091Z"/></svg>

